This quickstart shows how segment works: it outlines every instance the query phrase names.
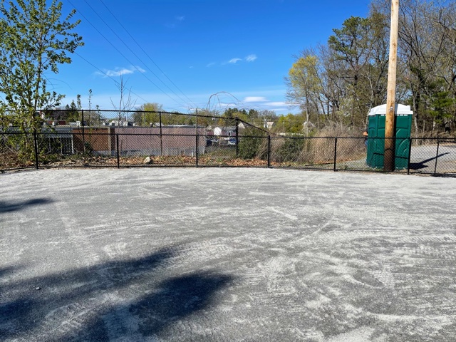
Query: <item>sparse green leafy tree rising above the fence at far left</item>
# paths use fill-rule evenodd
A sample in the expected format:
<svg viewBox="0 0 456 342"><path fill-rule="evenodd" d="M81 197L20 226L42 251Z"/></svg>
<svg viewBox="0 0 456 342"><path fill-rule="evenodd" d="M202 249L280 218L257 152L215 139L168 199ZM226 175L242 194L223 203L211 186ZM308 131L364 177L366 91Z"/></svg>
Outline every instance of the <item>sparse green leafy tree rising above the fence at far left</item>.
<svg viewBox="0 0 456 342"><path fill-rule="evenodd" d="M48 3L51 2L48 6ZM71 63L68 53L83 46L71 23L76 11L61 19L56 0L0 2L0 105L19 115L24 130L38 126L36 111L58 105L63 95L50 92L46 74L58 73L59 64Z"/></svg>

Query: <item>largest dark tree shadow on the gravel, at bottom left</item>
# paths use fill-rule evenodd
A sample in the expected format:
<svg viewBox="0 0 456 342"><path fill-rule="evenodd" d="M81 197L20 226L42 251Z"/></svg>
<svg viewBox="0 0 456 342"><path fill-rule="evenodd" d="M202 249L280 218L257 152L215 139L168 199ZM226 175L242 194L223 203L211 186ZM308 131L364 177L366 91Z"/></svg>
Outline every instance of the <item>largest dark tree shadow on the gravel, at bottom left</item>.
<svg viewBox="0 0 456 342"><path fill-rule="evenodd" d="M31 279L0 269L0 341L131 341L214 304L231 276L170 275L171 249ZM9 279L12 279L9 281Z"/></svg>

